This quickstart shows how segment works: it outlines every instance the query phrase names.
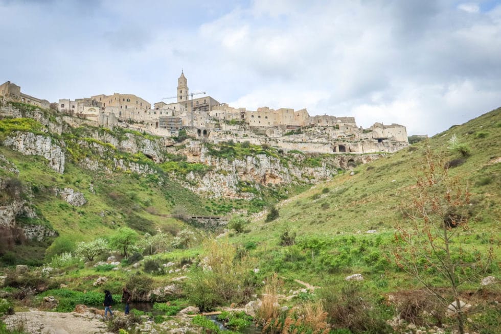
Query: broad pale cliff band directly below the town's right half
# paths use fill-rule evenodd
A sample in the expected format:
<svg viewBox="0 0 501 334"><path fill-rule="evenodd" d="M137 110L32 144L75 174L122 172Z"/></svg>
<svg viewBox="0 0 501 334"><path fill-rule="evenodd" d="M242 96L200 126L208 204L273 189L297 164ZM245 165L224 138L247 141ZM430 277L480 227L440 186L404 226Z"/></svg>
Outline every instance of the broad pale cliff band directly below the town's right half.
<svg viewBox="0 0 501 334"><path fill-rule="evenodd" d="M184 185L187 188L210 197L244 199L253 198L255 191L245 191L246 186L242 189L242 184L259 190L262 186L318 183L335 176L338 168L351 169L380 157L378 154L320 156L284 152L281 157L257 154L228 160L210 155L209 150L198 141L192 141L176 152L186 155L189 162L210 167L204 174L190 172L185 180L181 180L186 181Z"/></svg>

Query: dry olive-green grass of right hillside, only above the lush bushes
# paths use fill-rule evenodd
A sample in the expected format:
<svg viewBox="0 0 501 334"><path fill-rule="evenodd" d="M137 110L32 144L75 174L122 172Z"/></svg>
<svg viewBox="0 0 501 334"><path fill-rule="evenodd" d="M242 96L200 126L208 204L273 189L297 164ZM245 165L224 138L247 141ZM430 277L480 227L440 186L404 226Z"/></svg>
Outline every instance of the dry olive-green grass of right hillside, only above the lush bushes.
<svg viewBox="0 0 501 334"><path fill-rule="evenodd" d="M474 227L499 232L501 163L491 162L501 156L501 109L430 138L430 147L434 152L443 152L445 161L460 157L447 150L447 141L453 134L471 148L471 156L463 165L450 169L450 174L459 175L469 184ZM298 235L336 235L369 229L393 231L399 208L411 200L408 190L415 183L414 170L426 145L427 142L420 142L392 156L358 166L353 176L344 173L331 182L313 186L283 202L278 220L257 221L247 237L277 237L284 225L297 229Z"/></svg>

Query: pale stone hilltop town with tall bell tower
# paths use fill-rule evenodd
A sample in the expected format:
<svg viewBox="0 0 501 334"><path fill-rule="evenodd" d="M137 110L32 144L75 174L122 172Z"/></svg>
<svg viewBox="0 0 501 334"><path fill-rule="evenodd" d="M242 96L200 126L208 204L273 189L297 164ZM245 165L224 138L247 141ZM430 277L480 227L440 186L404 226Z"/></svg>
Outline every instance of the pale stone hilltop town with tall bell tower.
<svg viewBox="0 0 501 334"><path fill-rule="evenodd" d="M257 110L235 108L211 96L190 93L188 80L181 72L177 79L176 102L151 104L134 94L98 94L88 98L59 99L58 103L22 93L10 81L0 85L5 101L51 108L61 114L77 116L91 125L121 126L154 135L173 137L179 131L209 142L233 140L255 145L270 145L283 150L316 153L395 152L408 146L402 125L375 123L368 129L358 127L354 117L310 116L306 109ZM166 100L166 99L163 99Z"/></svg>

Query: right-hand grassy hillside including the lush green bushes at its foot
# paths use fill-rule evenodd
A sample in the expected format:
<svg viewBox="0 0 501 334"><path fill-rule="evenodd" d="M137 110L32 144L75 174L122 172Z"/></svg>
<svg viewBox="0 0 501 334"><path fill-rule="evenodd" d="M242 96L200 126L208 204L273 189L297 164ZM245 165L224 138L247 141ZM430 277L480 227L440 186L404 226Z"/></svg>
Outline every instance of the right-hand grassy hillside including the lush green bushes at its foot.
<svg viewBox="0 0 501 334"><path fill-rule="evenodd" d="M501 156L500 130L501 109L496 109L429 139L432 150L443 152L445 161L459 157L447 150L453 134L471 148L466 162L450 169L451 175L469 183L473 193L471 231L462 240L468 247L483 249L491 236L497 241L501 238L501 163L491 163ZM260 258L261 269L289 279L341 284L345 276L362 273L368 279L367 288L373 291L412 289L419 284L393 264L393 232L400 219L399 208L411 200L414 166L419 165L426 145L420 142L358 166L353 176L345 173L316 185L282 202L276 221L266 223L262 217L233 240L244 247L256 245L253 253ZM297 232L297 245L279 246L286 228ZM367 234L370 229L377 233ZM499 247L495 251L499 258ZM493 268L491 273L497 272Z"/></svg>

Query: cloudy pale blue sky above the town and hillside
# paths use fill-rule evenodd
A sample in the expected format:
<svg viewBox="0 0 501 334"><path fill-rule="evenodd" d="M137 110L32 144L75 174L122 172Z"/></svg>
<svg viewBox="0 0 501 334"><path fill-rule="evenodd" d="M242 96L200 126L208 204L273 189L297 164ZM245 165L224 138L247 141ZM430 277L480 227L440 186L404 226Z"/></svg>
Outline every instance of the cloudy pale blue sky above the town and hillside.
<svg viewBox="0 0 501 334"><path fill-rule="evenodd" d="M0 83L50 102L153 104L183 70L190 92L233 107L409 135L501 106L501 0L0 0L0 32Z"/></svg>

